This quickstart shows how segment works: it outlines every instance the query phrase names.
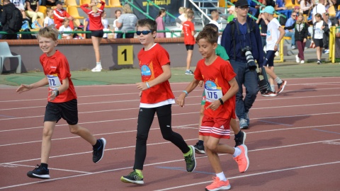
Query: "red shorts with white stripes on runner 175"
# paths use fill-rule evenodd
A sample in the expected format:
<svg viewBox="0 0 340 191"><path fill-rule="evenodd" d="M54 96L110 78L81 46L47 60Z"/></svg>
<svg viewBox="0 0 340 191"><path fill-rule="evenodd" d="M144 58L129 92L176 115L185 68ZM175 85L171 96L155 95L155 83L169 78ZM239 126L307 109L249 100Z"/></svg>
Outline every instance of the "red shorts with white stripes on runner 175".
<svg viewBox="0 0 340 191"><path fill-rule="evenodd" d="M199 134L217 139L230 139L230 120L204 115Z"/></svg>

